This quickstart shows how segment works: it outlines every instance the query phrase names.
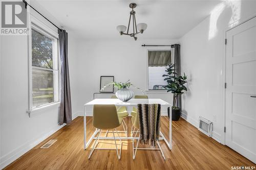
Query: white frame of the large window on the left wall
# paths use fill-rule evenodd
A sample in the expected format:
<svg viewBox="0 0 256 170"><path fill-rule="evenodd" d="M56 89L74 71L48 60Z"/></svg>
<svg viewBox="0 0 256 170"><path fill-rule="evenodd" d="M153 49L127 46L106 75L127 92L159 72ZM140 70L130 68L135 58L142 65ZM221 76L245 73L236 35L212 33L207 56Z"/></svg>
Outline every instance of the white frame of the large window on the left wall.
<svg viewBox="0 0 256 170"><path fill-rule="evenodd" d="M60 55L59 55L59 40L58 33L56 30L51 29L44 22L40 21L33 15L31 15L31 22L29 27L29 36L28 36L28 77L29 77L29 109L28 112L32 112L34 110L38 110L41 108L45 108L47 106L60 104ZM53 39L53 69L38 67L32 65L32 29L36 32L45 35L51 39ZM57 61L57 62L56 62ZM32 70L50 70L53 71L53 99L54 101L51 103L34 106L33 107L33 86L32 86Z"/></svg>

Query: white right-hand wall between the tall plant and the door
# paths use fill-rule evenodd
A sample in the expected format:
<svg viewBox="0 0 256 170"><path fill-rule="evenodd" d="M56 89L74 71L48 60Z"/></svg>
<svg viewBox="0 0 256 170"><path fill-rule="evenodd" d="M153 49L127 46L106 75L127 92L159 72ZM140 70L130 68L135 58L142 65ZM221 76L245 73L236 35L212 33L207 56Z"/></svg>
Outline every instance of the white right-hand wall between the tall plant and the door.
<svg viewBox="0 0 256 170"><path fill-rule="evenodd" d="M256 14L256 1L234 1L234 12L229 3L218 5L211 16L180 39L181 68L188 75L182 115L194 125L199 116L212 120L213 137L222 143L225 136L222 129L225 31L232 27L229 24L237 25Z"/></svg>

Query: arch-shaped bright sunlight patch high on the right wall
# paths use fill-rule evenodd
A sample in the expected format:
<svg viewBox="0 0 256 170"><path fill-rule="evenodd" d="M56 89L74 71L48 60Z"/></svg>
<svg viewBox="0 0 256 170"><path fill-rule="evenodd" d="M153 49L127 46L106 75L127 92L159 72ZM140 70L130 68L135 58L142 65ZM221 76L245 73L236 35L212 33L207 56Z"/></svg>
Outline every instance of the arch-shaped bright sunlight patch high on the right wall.
<svg viewBox="0 0 256 170"><path fill-rule="evenodd" d="M229 20L229 28L237 26L241 18L241 0L226 0L218 4L210 13L210 26L208 40L214 38L218 33L217 21L225 8L231 8L232 15Z"/></svg>

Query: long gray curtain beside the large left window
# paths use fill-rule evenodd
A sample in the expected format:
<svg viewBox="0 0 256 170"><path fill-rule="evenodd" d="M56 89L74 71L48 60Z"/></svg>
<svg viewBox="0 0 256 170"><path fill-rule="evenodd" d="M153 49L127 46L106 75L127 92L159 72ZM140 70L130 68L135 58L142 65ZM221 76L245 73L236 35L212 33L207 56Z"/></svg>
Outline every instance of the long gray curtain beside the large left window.
<svg viewBox="0 0 256 170"><path fill-rule="evenodd" d="M61 82L60 82L60 113L59 122L69 124L72 120L71 96L69 82L69 62L68 62L68 33L65 30L58 30L59 53L61 61Z"/></svg>

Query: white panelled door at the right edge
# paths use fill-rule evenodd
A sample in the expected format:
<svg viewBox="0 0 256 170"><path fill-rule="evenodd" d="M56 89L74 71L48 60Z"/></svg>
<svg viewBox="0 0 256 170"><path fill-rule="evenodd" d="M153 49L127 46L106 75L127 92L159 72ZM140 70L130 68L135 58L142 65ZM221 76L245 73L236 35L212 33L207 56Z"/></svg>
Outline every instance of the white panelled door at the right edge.
<svg viewBox="0 0 256 170"><path fill-rule="evenodd" d="M256 163L256 17L227 32L226 145Z"/></svg>

